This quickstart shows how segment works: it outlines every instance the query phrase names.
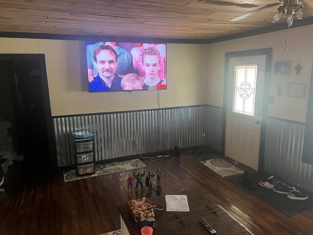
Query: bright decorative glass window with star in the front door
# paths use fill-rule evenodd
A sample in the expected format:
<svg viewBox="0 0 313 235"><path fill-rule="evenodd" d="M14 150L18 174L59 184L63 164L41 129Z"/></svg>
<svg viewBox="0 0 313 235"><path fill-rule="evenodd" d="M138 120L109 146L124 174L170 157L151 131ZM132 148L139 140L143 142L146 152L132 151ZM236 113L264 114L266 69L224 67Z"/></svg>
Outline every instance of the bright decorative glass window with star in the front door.
<svg viewBox="0 0 313 235"><path fill-rule="evenodd" d="M236 65L233 112L254 116L257 65Z"/></svg>

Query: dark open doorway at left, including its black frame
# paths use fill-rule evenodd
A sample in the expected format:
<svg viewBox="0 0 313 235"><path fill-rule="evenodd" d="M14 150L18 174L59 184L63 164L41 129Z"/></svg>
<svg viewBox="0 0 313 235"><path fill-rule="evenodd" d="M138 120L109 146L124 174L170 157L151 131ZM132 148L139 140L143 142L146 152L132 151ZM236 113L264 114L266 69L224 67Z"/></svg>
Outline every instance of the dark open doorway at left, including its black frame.
<svg viewBox="0 0 313 235"><path fill-rule="evenodd" d="M52 169L55 147L45 55L0 54L0 72L1 90L6 90L0 116L12 123L14 150L24 156L28 169Z"/></svg>

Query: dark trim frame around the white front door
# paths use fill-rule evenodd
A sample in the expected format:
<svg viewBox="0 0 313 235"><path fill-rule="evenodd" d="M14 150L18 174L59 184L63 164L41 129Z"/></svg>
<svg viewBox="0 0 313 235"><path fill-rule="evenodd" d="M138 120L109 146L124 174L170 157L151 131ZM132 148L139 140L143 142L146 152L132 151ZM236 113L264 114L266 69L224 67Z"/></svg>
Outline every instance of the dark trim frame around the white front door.
<svg viewBox="0 0 313 235"><path fill-rule="evenodd" d="M225 67L224 67L224 95L223 95L223 116L222 116L222 142L221 151L225 156L225 134L226 134L226 105L227 105L227 87L228 87L228 70L229 59L233 57L266 55L265 73L264 73L264 93L263 93L263 107L261 116L261 133L260 133L260 149L259 149L259 166L258 170L263 171L264 168L264 153L265 153L265 133L266 133L266 118L268 107L268 87L269 74L272 60L272 48L262 48L254 50L234 51L225 53Z"/></svg>

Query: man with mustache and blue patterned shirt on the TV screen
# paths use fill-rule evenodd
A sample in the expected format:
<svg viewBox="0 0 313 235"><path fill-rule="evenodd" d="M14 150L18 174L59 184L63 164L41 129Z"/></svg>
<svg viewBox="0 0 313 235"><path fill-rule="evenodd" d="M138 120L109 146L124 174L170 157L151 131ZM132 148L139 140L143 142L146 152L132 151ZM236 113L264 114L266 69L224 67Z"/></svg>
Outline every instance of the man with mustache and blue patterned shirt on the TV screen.
<svg viewBox="0 0 313 235"><path fill-rule="evenodd" d="M121 78L115 74L117 68L117 54L111 46L101 45L94 50L94 65L98 75L89 83L89 91L119 91Z"/></svg>

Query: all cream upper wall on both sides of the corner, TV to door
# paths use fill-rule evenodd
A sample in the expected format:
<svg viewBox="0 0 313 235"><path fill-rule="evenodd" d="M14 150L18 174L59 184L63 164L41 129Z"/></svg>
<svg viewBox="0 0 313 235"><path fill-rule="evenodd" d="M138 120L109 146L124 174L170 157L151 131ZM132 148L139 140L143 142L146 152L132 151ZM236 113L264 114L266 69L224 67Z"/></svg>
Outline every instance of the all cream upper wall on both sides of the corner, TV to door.
<svg viewBox="0 0 313 235"><path fill-rule="evenodd" d="M223 106L224 55L226 52L273 48L268 116L305 122L313 61L313 25L210 45L167 44L168 90L160 91L161 107L197 104ZM45 54L52 116L156 108L156 91L89 93L81 73L84 42L66 40L0 38L0 53ZM291 61L291 73L274 75L275 61ZM300 62L300 75L294 67ZM288 83L306 84L304 98L287 95ZM283 93L276 90L281 84Z"/></svg>

